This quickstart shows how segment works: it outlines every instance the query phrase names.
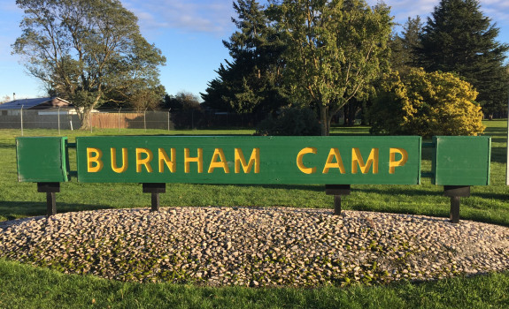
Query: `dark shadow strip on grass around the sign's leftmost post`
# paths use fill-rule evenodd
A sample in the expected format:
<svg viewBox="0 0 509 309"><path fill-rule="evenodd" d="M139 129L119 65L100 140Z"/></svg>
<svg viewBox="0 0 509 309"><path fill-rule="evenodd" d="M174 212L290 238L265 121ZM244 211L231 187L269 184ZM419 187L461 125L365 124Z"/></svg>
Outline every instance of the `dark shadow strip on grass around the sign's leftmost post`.
<svg viewBox="0 0 509 309"><path fill-rule="evenodd" d="M57 198L58 199L58 198ZM87 205L87 204L66 204L58 203L57 200L57 214L86 211L86 210L99 210L112 208L106 205ZM5 217L7 220L14 220L21 217L46 215L45 202L32 202L32 201L0 201L0 217Z"/></svg>

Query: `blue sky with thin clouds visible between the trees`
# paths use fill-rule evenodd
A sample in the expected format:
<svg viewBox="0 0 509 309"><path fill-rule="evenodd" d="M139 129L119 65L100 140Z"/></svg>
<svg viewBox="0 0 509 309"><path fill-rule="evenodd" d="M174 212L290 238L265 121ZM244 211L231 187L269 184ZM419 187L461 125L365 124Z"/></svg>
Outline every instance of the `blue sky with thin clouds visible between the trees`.
<svg viewBox="0 0 509 309"><path fill-rule="evenodd" d="M161 83L166 93L204 92L207 82L228 58L222 40L235 31L231 0L120 0L138 17L143 36L155 43L166 56L161 68ZM262 4L265 0L260 1ZM377 0L367 0L376 4ZM422 18L433 11L439 0L385 0L391 6L395 21L405 23L408 17ZM482 0L482 11L500 28L498 41L509 42L509 1ZM23 11L15 0L0 4L0 101L12 93L18 99L44 95L37 79L27 75L19 57L11 55L11 45L21 34L19 21ZM425 20L425 19L424 19Z"/></svg>

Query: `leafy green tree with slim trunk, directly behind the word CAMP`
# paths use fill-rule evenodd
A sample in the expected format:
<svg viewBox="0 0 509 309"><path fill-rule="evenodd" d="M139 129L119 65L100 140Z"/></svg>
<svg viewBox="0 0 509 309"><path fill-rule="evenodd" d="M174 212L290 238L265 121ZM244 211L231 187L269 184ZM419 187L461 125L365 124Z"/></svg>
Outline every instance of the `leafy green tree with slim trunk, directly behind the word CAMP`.
<svg viewBox="0 0 509 309"><path fill-rule="evenodd" d="M366 99L388 65L389 7L364 0L282 0L273 3L285 34L284 76L297 102L320 109L322 135L352 98Z"/></svg>

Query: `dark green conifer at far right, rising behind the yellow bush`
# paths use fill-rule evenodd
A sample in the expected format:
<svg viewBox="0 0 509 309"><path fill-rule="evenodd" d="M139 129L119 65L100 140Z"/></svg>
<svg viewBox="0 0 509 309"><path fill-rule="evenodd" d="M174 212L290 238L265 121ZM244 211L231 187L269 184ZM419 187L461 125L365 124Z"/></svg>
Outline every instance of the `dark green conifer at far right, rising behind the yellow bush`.
<svg viewBox="0 0 509 309"><path fill-rule="evenodd" d="M420 35L420 64L428 71L457 72L479 92L488 114L505 109L509 78L504 61L509 45L496 41L495 24L477 0L442 0Z"/></svg>

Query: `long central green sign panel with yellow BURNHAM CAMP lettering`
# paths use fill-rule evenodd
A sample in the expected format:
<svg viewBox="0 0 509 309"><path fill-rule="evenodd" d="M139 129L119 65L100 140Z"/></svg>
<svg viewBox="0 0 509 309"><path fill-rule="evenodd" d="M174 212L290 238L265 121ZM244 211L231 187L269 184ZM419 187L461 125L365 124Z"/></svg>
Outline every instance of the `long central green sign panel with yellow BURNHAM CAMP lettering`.
<svg viewBox="0 0 509 309"><path fill-rule="evenodd" d="M78 181L420 184L420 137L76 138Z"/></svg>

